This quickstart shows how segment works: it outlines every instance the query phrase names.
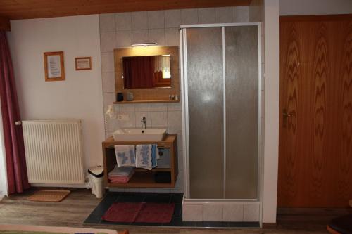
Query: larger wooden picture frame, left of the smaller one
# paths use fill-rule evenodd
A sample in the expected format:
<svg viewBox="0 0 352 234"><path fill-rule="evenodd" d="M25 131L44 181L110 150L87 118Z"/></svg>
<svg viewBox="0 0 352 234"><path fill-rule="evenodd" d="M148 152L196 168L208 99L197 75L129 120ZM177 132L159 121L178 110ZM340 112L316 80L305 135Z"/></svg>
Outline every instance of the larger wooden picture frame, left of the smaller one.
<svg viewBox="0 0 352 234"><path fill-rule="evenodd" d="M44 52L44 72L46 82L65 80L63 51Z"/></svg>

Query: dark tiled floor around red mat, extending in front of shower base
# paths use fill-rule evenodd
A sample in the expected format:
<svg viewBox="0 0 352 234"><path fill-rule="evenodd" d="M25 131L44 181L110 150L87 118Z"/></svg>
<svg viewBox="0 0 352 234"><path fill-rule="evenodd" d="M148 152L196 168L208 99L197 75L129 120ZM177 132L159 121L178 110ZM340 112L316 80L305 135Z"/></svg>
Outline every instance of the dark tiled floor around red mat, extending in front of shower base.
<svg viewBox="0 0 352 234"><path fill-rule="evenodd" d="M137 226L174 226L174 227L210 227L232 228L248 227L258 228L258 222L189 222L182 221L182 196L183 193L113 193L109 192L94 209L92 214L84 221L84 224L108 224L108 225L137 225ZM101 216L108 210L113 202L161 202L175 203L175 212L170 223L112 223L101 220Z"/></svg>

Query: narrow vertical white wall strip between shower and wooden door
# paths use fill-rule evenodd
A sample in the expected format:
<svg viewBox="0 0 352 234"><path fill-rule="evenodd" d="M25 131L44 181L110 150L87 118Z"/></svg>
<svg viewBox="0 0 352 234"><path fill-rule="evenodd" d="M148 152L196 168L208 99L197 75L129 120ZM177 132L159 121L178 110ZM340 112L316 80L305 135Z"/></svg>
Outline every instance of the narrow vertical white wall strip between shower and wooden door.
<svg viewBox="0 0 352 234"><path fill-rule="evenodd" d="M265 0L264 11L265 142L263 223L275 223L279 160L279 0Z"/></svg>

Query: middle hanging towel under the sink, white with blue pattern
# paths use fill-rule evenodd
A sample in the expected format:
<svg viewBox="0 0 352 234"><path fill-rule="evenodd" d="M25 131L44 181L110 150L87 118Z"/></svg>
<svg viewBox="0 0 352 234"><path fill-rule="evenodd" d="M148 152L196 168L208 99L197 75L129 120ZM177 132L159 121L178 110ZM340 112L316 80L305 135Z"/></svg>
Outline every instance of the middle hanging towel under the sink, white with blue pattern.
<svg viewBox="0 0 352 234"><path fill-rule="evenodd" d="M136 146L136 167L151 170L158 164L158 147L157 145L137 145Z"/></svg>

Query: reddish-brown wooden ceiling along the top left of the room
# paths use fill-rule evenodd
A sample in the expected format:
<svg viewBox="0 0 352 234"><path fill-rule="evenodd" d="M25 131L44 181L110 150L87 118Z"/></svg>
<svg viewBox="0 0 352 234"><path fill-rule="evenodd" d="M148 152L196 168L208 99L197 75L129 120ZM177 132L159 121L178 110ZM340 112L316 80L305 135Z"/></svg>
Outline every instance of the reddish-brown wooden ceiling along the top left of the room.
<svg viewBox="0 0 352 234"><path fill-rule="evenodd" d="M0 16L18 20L177 8L249 6L250 2L251 0L4 0Z"/></svg>

